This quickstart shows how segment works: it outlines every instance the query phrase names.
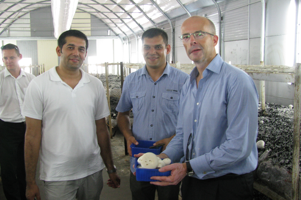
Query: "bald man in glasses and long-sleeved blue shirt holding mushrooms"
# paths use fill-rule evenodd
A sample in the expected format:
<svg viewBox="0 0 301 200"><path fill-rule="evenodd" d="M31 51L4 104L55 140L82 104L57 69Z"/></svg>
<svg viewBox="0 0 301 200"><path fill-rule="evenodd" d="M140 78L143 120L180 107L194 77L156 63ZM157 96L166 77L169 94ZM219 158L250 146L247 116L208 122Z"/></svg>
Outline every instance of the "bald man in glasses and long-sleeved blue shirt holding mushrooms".
<svg viewBox="0 0 301 200"><path fill-rule="evenodd" d="M258 93L251 77L216 54L214 24L193 16L181 26L188 57L196 67L182 88L176 136L160 158L174 163L169 177L152 177L172 185L182 180L182 199L252 200L257 166ZM221 47L219 47L221 48Z"/></svg>

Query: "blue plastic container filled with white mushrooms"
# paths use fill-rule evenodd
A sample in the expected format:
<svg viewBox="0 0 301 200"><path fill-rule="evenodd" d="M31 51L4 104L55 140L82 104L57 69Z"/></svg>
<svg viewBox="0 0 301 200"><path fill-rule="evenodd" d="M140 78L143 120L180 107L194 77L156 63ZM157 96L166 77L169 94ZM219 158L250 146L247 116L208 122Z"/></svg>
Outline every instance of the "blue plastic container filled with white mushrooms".
<svg viewBox="0 0 301 200"><path fill-rule="evenodd" d="M135 169L136 169L136 180L137 181L157 181L152 180L150 177L152 176L170 176L172 171L167 172L159 172L159 169L144 169L144 168L137 168L138 158L135 160Z"/></svg>

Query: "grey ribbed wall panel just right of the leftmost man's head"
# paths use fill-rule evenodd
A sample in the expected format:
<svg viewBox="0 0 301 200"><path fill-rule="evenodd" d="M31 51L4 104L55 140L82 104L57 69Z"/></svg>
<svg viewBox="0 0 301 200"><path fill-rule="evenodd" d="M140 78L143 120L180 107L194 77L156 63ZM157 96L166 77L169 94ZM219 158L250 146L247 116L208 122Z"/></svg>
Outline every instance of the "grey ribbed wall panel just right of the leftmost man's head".
<svg viewBox="0 0 301 200"><path fill-rule="evenodd" d="M23 58L31 58L32 65L38 65L38 43L36 40L17 40Z"/></svg>

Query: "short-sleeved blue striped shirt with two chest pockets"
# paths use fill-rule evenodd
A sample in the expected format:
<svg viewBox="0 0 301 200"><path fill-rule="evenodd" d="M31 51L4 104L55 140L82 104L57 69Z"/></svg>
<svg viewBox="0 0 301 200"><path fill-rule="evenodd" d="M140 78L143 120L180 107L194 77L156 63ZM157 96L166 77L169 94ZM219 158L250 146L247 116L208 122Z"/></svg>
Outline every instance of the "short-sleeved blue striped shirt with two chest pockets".
<svg viewBox="0 0 301 200"><path fill-rule="evenodd" d="M132 132L136 140L159 141L176 133L179 99L187 73L168 63L161 77L154 82L146 66L130 73L124 80L118 112L133 109ZM132 172L135 158L130 158Z"/></svg>

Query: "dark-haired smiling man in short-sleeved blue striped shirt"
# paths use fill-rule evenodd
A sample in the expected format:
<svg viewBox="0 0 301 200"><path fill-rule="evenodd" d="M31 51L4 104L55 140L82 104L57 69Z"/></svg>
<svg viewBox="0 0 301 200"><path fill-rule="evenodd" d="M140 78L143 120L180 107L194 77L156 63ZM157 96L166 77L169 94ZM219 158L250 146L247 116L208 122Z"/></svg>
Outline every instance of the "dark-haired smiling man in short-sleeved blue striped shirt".
<svg viewBox="0 0 301 200"><path fill-rule="evenodd" d="M116 107L119 112L117 123L126 141L129 155L130 145L136 140L157 141L154 145L165 143L163 149L175 136L179 99L182 86L189 75L171 67L166 62L166 55L171 47L166 32L151 28L142 35L142 53L145 66L130 73L124 80L123 91ZM129 119L132 109L133 128ZM133 165L135 158L130 158L130 188L133 200L154 200L157 190L159 199L177 200L180 183L162 187L149 182L137 181Z"/></svg>

